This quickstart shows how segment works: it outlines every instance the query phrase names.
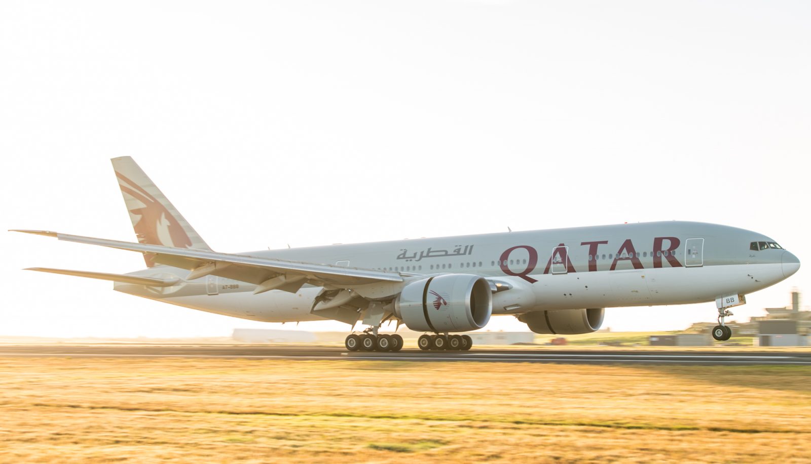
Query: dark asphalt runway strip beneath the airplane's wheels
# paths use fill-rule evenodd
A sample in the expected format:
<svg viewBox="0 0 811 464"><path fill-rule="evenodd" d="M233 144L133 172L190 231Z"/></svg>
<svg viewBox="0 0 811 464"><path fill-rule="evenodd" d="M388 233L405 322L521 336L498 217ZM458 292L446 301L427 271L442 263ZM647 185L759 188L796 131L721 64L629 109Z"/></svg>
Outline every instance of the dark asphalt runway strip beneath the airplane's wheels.
<svg viewBox="0 0 811 464"><path fill-rule="evenodd" d="M97 358L242 358L256 360L380 360L380 361L467 361L498 363L564 364L720 364L720 365L811 365L811 352L796 351L586 351L586 350L494 350L420 351L397 353L346 351L343 347L294 345L170 345L170 346L0 346L0 356L11 357L97 357Z"/></svg>

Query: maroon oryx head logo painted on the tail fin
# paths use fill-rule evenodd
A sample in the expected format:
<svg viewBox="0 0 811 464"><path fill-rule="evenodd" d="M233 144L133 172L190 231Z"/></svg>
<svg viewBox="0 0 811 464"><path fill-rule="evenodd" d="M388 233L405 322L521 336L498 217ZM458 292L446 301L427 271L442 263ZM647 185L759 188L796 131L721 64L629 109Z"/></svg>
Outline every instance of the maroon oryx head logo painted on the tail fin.
<svg viewBox="0 0 811 464"><path fill-rule="evenodd" d="M121 187L121 191L144 205L129 210L132 215L140 216L138 222L132 224L140 243L175 248L188 248L191 246L191 239L178 223L178 219L175 219L174 215L157 198L148 194L146 190L120 172L115 172L115 175L118 177L118 185ZM149 255L144 258L146 258L148 264L152 262L152 257ZM154 265L154 262L152 262L152 265Z"/></svg>

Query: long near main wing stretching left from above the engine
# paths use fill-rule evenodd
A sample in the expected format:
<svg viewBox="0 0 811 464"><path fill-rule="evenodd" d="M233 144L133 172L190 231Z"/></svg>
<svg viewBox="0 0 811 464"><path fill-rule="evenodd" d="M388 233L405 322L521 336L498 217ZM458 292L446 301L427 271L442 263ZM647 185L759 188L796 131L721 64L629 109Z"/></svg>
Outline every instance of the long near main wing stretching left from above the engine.
<svg viewBox="0 0 811 464"><path fill-rule="evenodd" d="M88 245L101 245L115 249L127 249L152 256L154 262L191 270L187 279L204 275L218 275L226 279L254 283L256 293L278 288L297 292L304 283L345 287L364 283L402 282L397 273L382 270L367 270L351 267L329 266L309 262L294 262L279 259L254 257L244 254L217 253L204 249L173 248L127 241L115 241L88 236L75 236L50 231L14 230L42 236L53 236L62 241Z"/></svg>

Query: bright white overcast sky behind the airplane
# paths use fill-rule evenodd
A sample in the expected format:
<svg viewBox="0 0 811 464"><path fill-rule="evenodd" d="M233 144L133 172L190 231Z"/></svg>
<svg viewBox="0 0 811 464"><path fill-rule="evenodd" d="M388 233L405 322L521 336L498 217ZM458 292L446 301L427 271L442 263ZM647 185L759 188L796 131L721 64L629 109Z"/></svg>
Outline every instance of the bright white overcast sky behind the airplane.
<svg viewBox="0 0 811 464"><path fill-rule="evenodd" d="M809 58L809 2L0 2L0 228L135 241L120 155L226 252L723 223L804 263L744 320L811 292ZM20 270L128 272L138 253L0 246L0 334L278 326ZM609 309L606 326L714 313Z"/></svg>

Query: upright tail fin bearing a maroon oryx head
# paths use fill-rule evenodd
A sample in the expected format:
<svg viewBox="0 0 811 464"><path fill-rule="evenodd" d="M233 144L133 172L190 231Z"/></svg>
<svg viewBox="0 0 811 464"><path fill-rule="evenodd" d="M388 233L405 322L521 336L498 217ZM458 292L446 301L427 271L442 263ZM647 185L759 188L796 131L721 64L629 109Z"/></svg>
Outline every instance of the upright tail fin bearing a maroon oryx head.
<svg viewBox="0 0 811 464"><path fill-rule="evenodd" d="M135 160L122 156L111 161L139 243L211 250ZM144 261L155 266L149 255Z"/></svg>

